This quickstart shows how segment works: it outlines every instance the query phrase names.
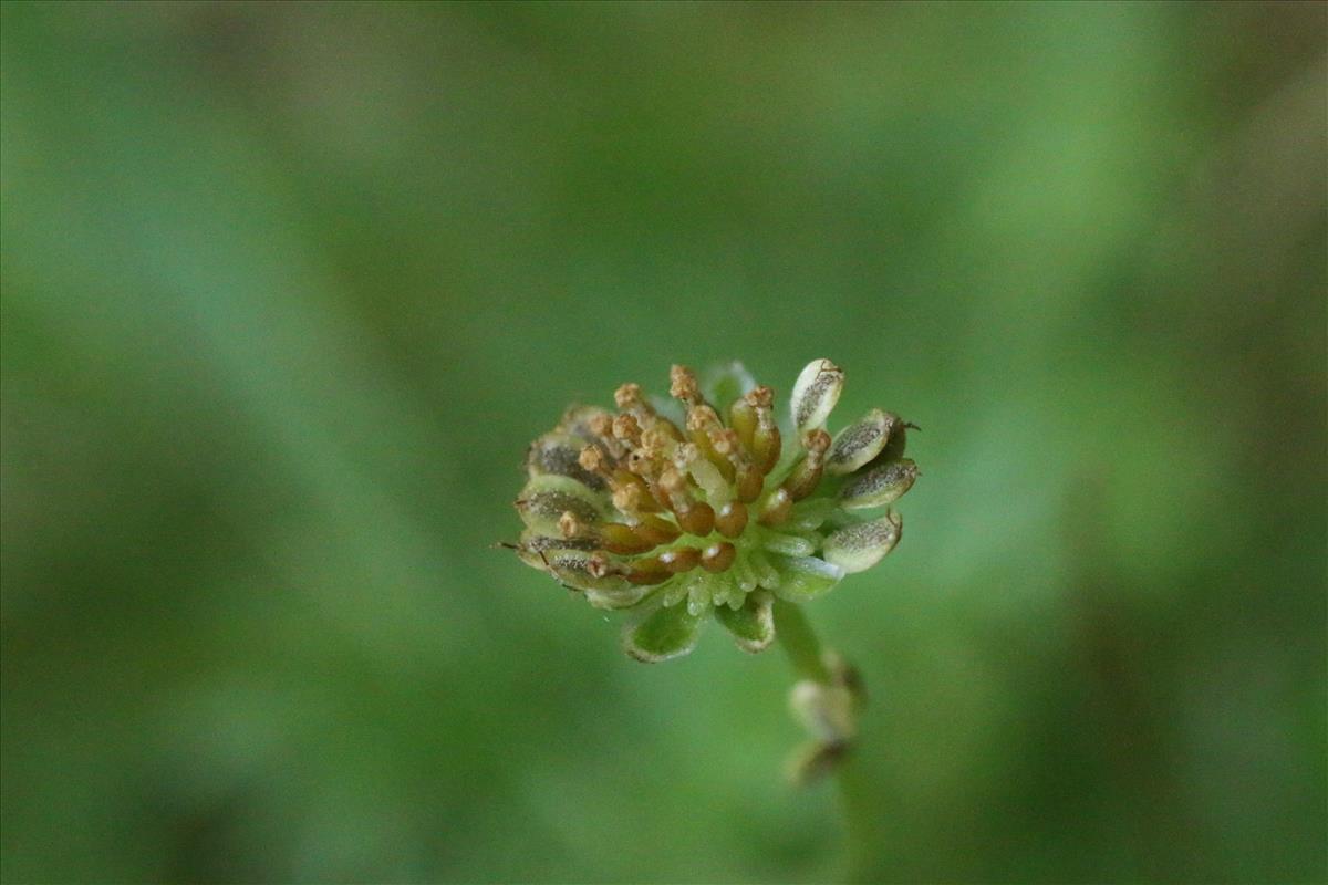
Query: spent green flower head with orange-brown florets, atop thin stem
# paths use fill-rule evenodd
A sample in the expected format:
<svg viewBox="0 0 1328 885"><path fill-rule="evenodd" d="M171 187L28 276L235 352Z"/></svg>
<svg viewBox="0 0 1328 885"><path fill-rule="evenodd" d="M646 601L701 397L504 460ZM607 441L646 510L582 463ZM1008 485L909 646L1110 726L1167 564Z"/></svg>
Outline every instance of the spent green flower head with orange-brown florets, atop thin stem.
<svg viewBox="0 0 1328 885"><path fill-rule="evenodd" d="M903 523L888 506L918 476L898 415L826 431L843 390L829 360L802 370L780 418L741 364L706 381L673 366L672 401L625 383L616 413L572 406L531 443L515 502L522 561L629 609L623 647L639 661L687 654L712 613L764 650L774 597L813 600L894 549Z"/></svg>

